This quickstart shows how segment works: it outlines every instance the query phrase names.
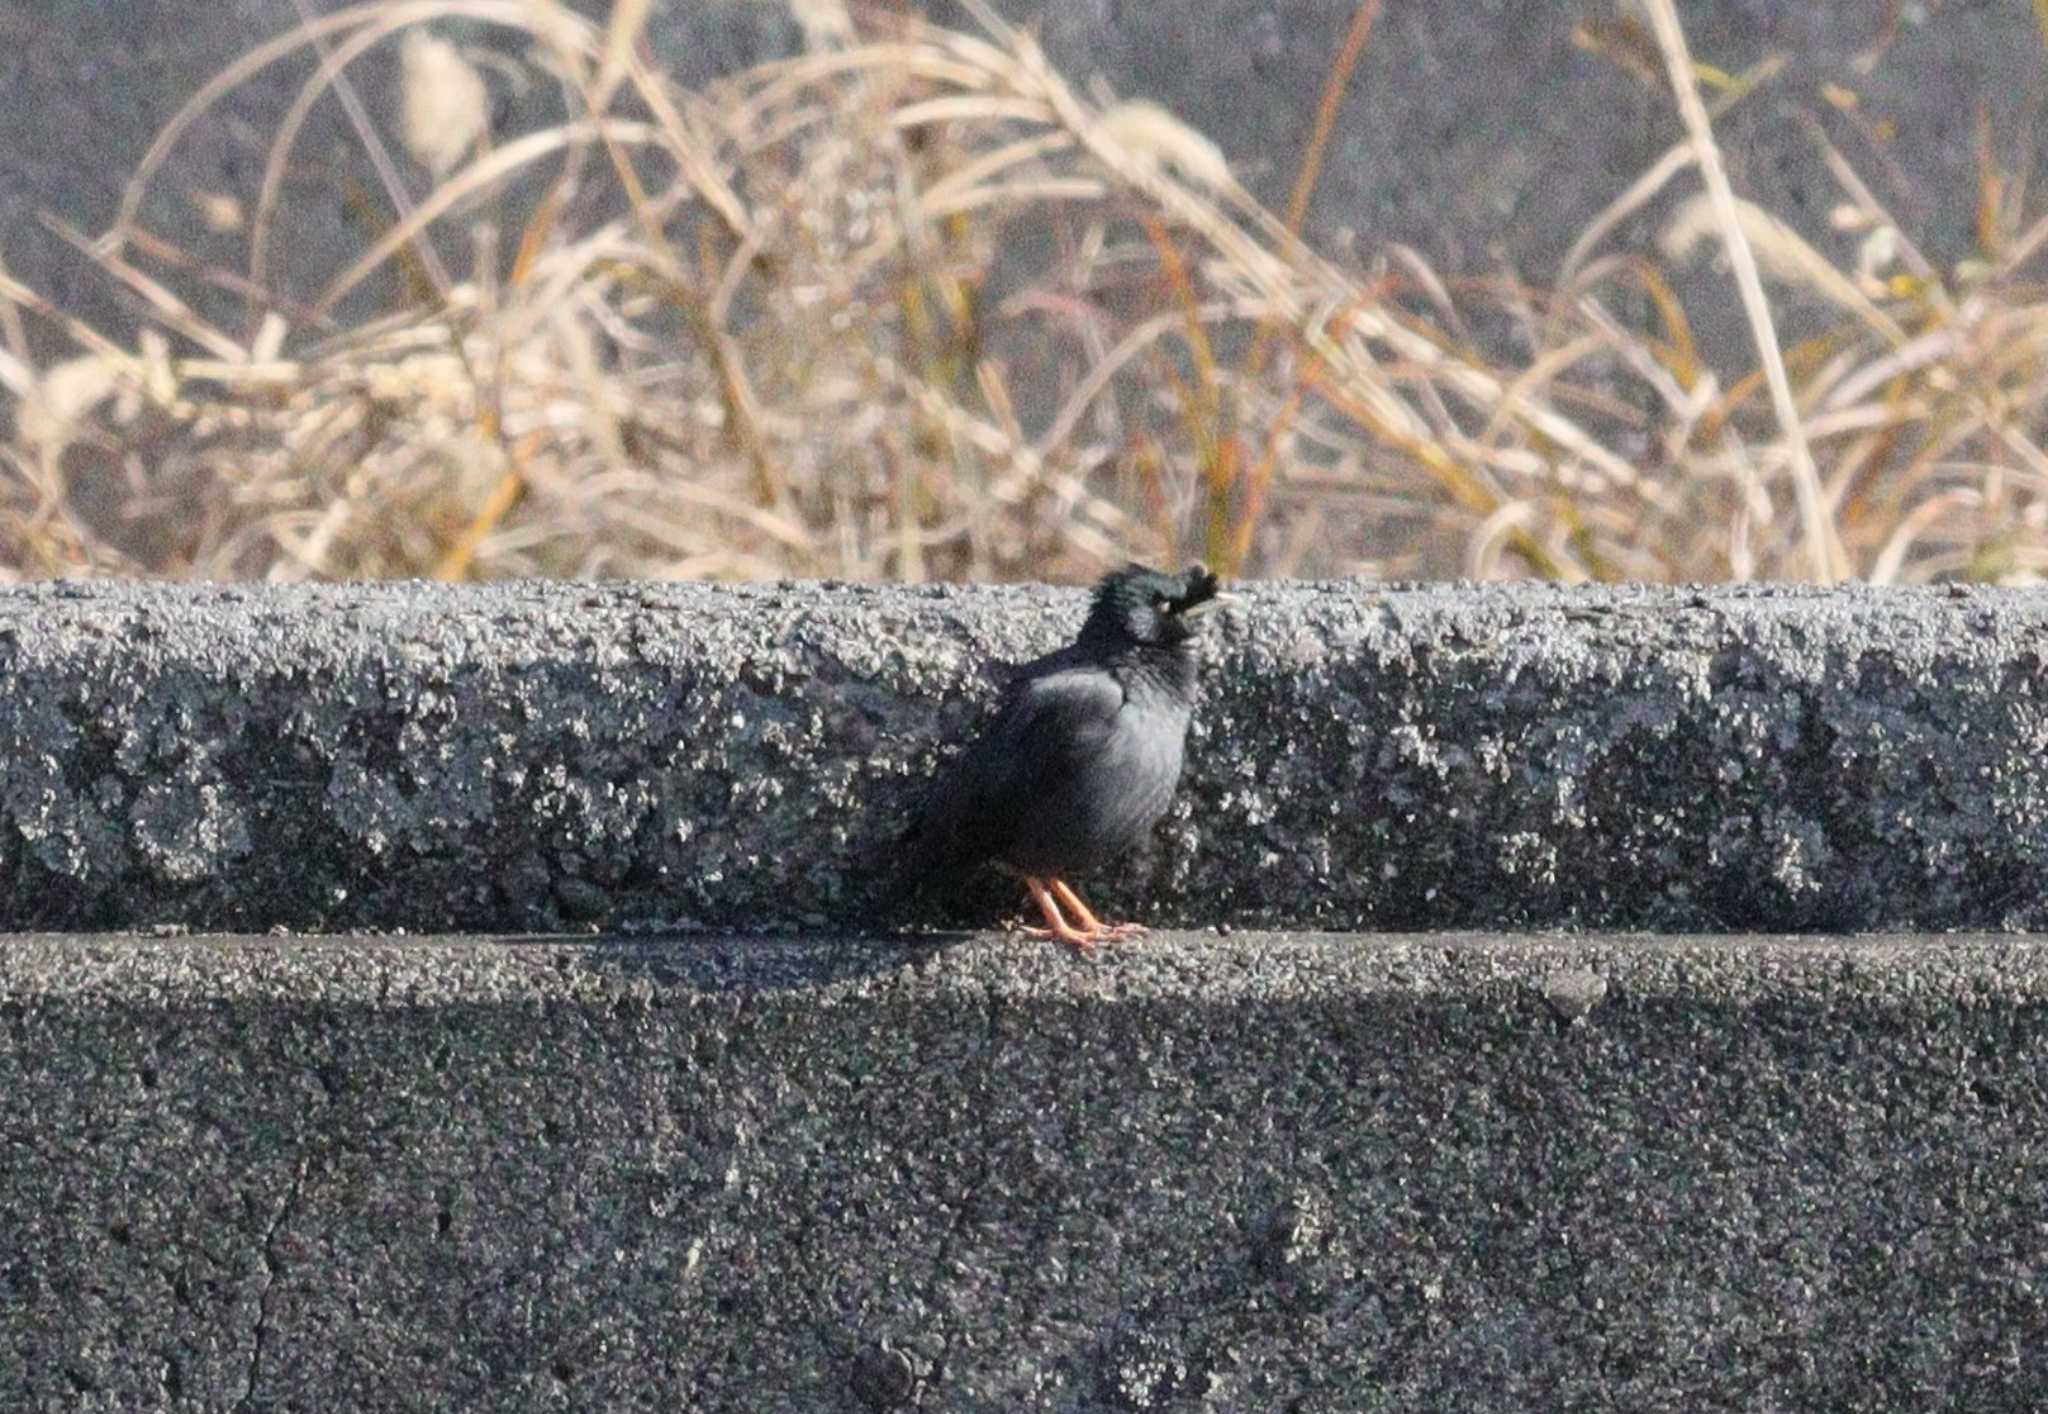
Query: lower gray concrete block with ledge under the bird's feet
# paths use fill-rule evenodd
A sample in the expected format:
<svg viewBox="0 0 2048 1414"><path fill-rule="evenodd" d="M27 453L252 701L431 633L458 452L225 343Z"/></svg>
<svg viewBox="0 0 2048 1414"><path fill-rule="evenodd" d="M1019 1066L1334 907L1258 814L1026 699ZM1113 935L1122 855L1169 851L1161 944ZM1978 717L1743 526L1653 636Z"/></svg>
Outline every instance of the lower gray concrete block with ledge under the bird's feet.
<svg viewBox="0 0 2048 1414"><path fill-rule="evenodd" d="M8 1410L2034 1410L2048 943L0 941Z"/></svg>

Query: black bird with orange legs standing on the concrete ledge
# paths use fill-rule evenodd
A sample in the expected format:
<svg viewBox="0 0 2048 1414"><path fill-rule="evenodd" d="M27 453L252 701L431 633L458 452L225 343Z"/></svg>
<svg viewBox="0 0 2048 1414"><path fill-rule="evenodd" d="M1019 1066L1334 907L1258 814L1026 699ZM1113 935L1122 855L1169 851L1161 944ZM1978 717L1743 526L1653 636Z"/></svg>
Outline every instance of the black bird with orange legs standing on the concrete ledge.
<svg viewBox="0 0 2048 1414"><path fill-rule="evenodd" d="M907 881L995 861L1024 875L1044 912L1034 937L1087 949L1143 932L1096 918L1065 879L1122 855L1171 803L1194 713L1194 635L1225 598L1202 566L1104 576L1081 635L1024 664L995 719L936 781L903 836Z"/></svg>

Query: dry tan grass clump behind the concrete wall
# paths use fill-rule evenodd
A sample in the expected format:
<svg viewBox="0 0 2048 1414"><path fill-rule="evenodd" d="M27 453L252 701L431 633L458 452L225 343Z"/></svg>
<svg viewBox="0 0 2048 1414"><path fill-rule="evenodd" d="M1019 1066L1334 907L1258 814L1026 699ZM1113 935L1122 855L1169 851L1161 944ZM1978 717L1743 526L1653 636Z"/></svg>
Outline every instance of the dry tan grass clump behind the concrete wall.
<svg viewBox="0 0 2048 1414"><path fill-rule="evenodd" d="M1296 236L1372 0L1284 219L1206 137L1075 92L993 14L965 35L801 0L807 53L686 92L643 57L647 8L598 27L551 0L375 0L307 14L199 92L113 230L78 238L162 332L117 344L0 268L0 574L2048 568L2048 297L2019 273L2048 221L2019 225L1987 141L1982 258L1942 275L1815 123L1862 240L1839 268L1712 180L1669 6L1671 43L1649 53L1681 82L1688 135L1552 291L1444 281L1399 248L1360 273ZM498 78L455 20L522 37L559 121L492 133ZM350 72L393 55L403 105L371 115ZM197 115L289 61L311 74L244 195L246 260L203 268L139 225L141 199ZM328 94L387 227L293 299L270 277L274 213ZM1679 205L1661 256L1614 252L1610 232L1702 156L1710 197ZM512 182L547 195L508 230ZM1761 279L1796 285L1833 328L1782 357L1761 344L1759 371L1722 385L1671 279L1702 242L1753 266L1753 299ZM233 328L199 314L199 285L240 291ZM385 314L338 326L367 291ZM37 367L35 318L76 357ZM1479 318L1530 352L1483 355Z"/></svg>

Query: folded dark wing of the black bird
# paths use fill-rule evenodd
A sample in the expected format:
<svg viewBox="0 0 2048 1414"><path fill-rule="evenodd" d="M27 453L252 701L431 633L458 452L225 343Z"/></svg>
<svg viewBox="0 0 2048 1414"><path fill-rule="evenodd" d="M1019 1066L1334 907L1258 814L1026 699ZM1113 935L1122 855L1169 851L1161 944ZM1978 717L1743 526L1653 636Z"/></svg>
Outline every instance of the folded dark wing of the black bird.
<svg viewBox="0 0 2048 1414"><path fill-rule="evenodd" d="M940 777L905 838L911 877L1001 855L1032 799L1057 793L1100 756L1124 689L1102 668L1059 668L1012 684L995 721Z"/></svg>

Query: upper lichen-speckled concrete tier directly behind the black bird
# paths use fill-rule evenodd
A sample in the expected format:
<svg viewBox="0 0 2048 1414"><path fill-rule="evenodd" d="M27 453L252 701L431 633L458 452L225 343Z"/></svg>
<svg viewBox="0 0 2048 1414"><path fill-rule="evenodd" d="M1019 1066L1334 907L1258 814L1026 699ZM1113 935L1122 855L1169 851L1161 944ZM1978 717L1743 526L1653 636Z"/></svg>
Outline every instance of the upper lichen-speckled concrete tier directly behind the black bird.
<svg viewBox="0 0 2048 1414"><path fill-rule="evenodd" d="M0 592L0 930L893 928L1079 590ZM2048 596L1257 584L1155 924L2048 928Z"/></svg>

